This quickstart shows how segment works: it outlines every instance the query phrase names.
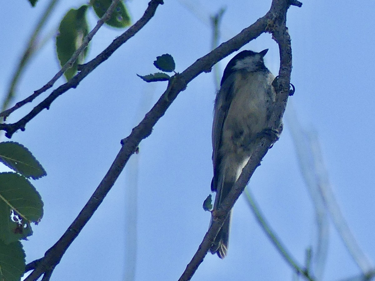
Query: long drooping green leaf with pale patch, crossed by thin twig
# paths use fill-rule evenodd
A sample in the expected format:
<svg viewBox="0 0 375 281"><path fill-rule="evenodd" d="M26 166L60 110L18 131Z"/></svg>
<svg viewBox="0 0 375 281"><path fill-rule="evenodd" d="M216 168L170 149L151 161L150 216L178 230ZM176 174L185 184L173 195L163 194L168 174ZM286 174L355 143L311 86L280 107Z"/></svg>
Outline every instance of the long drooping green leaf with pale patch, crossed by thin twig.
<svg viewBox="0 0 375 281"><path fill-rule="evenodd" d="M56 37L56 51L60 65L63 66L81 46L83 38L89 33L89 25L86 20L87 5L79 9L71 9L66 13L58 28ZM77 73L77 64L81 64L87 55L87 48L81 53L73 66L65 71L67 80Z"/></svg>

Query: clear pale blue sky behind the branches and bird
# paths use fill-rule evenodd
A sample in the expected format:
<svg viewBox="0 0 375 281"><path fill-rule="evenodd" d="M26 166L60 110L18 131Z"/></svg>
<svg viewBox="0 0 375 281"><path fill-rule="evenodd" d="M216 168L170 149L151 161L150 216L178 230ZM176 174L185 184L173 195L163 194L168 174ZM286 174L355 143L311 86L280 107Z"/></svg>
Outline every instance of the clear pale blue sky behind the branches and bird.
<svg viewBox="0 0 375 281"><path fill-rule="evenodd" d="M67 10L84 3L60 1L43 34L57 28ZM42 257L65 232L110 167L120 140L129 135L165 90L166 82L146 84L136 74L155 72L155 57L165 53L174 57L176 71L183 71L210 51L211 29L204 16L208 18L226 7L221 26L223 42L263 16L271 1L193 1L193 11L186 3L192 2L166 0L144 29L76 89L52 103L49 111L30 121L25 132L13 136L13 141L33 152L48 173L33 183L45 208L42 221L33 227L34 235L23 242L27 262ZM46 4L46 0L39 0L37 7L31 8L26 0L3 3L1 93L6 91L23 44ZM134 22L143 14L147 1L133 0L128 7ZM374 12L373 1L303 1L302 8L291 7L288 12L293 50L291 82L296 86L287 106L286 114L291 118L285 121L280 140L264 157L249 188L273 229L301 264L305 249L315 243L316 226L291 138L293 119L317 135L345 219L369 259L375 257ZM89 14L93 27L96 18ZM88 60L121 32L102 27L92 41ZM266 48L270 49L266 66L276 74L278 46L270 34L263 34L242 49ZM220 72L233 55L219 63ZM18 85L17 100L42 87L57 71L54 40L50 40L28 65ZM194 79L150 137L141 142L140 153L132 156L130 168L68 249L51 280L123 280L129 248L126 216L135 209L135 280L180 277L210 221L202 202L210 193L212 177L212 75L204 73ZM60 79L55 87L63 83ZM35 105L15 112L7 122L17 121ZM136 200L129 203L126 198L134 181ZM323 280L341 280L360 273L332 224L327 251ZM242 196L233 211L228 256L220 260L208 254L192 280L268 281L292 280L292 276L290 266L264 235Z"/></svg>

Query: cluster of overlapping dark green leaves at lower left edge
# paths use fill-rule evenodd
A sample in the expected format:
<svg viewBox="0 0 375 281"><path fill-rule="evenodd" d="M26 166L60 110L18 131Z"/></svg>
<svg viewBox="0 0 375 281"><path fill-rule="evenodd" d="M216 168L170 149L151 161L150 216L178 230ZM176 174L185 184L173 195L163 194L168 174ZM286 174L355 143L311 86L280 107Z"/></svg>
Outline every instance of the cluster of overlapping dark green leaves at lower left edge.
<svg viewBox="0 0 375 281"><path fill-rule="evenodd" d="M0 173L0 280L20 280L25 270L25 253L19 240L33 234L31 223L43 217L43 201L29 179L46 171L17 142L0 143L0 162L14 172Z"/></svg>

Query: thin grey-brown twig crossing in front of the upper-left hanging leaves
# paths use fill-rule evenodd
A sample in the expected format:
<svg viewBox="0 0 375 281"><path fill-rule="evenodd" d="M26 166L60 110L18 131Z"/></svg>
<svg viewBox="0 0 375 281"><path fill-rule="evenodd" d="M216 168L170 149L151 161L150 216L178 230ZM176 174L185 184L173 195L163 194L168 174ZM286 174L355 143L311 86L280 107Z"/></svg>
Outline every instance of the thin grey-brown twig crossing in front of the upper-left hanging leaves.
<svg viewBox="0 0 375 281"><path fill-rule="evenodd" d="M9 108L6 111L3 111L3 112L0 113L0 117L3 116L4 117L4 121L6 120L6 118L13 111L15 111L16 109L20 108L21 106L25 105L28 102L32 102L37 96L39 96L40 94L44 93L46 90L48 90L49 88L51 88L53 86L53 84L55 84L55 82L57 81L57 79L60 78L69 67L72 67L72 65L77 60L77 58L81 54L81 52L83 52L83 50L87 47L87 45L89 45L91 39L94 37L94 35L96 34L96 32L99 30L99 28L102 27L102 25L104 24L104 22L106 22L108 19L110 19L112 12L114 11L115 7L118 4L118 1L120 1L120 0L113 0L112 1L111 5L108 7L107 11L104 13L104 15L102 16L102 18L100 18L98 20L98 22L95 25L95 27L93 28L93 30L90 31L90 33L87 34L86 37L84 37L84 39L82 40L81 46L74 52L74 54L72 55L72 57L55 74L55 76L53 76L53 78L50 81L48 81L47 84L45 84L39 90L34 91L34 93L32 95L28 96L26 99L21 100L20 102L16 103L12 108Z"/></svg>

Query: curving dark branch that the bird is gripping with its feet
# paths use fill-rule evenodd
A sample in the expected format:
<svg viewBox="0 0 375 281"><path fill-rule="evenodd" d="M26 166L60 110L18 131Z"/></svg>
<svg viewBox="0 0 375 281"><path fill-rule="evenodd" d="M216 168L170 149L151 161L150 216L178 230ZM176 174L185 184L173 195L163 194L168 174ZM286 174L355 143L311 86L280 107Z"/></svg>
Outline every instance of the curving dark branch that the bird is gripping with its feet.
<svg viewBox="0 0 375 281"><path fill-rule="evenodd" d="M287 105L289 94L290 75L292 70L292 50L288 28L286 27L286 16L290 4L290 0L273 0L269 12L267 12L267 14L262 18L258 19L253 25L245 29L249 30L255 28L257 34L270 32L273 35L273 39L275 39L279 45L280 69L279 77L275 84L277 96L269 123L270 128L273 129L278 129L281 126L281 119ZM263 27L264 29L258 30L256 27ZM245 30L243 30L241 33L243 33ZM258 36L259 35L260 34L258 34ZM251 38L250 40L252 39L254 38ZM234 203L245 189L255 169L260 165L260 162L264 155L266 155L270 145L272 145L272 143L275 141L276 140L267 138L262 138L259 140L257 149L255 149L248 163L243 168L239 179L229 191L227 197L223 200L220 207L212 212L213 223L205 234L203 241L199 245L198 250L194 254L192 260L186 266L186 269L181 275L179 281L191 279L211 247L214 238L219 233L219 230L228 216L229 211L233 208Z"/></svg>

